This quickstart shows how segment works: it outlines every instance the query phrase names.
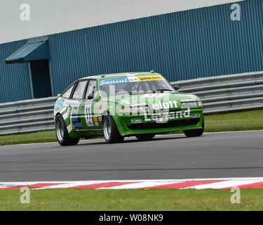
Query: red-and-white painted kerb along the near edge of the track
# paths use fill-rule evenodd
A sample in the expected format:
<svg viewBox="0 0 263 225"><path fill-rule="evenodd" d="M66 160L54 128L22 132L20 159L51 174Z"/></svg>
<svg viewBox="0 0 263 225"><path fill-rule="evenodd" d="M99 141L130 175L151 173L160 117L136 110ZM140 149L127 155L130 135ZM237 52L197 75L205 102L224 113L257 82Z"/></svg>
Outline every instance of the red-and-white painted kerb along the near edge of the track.
<svg viewBox="0 0 263 225"><path fill-rule="evenodd" d="M220 179L159 179L159 180L104 180L104 181L29 181L29 182L0 182L1 188L13 188L15 186L32 186L34 184L39 184L39 188L32 187L34 189L50 189L50 188L76 188L77 186L83 186L80 188L91 188L97 189L137 189L137 188L154 188L157 186L169 185L169 184L180 184L185 181L189 181L189 186L187 188L181 189L221 189L221 188L232 188L236 186L248 185L248 188L253 188L253 184L263 182L263 177L243 177L243 178L220 178ZM193 181L191 183L191 181ZM212 184L200 184L196 185L194 181L217 181ZM99 188L100 186L107 186L109 183L111 186L107 188ZM123 183L133 183L133 184L123 184ZM41 184L45 184L41 187ZM96 184L102 184L96 186ZM192 185L192 186L191 186ZM251 186L250 186L251 185ZM88 187L87 187L88 186ZM259 186L260 188L261 186Z"/></svg>

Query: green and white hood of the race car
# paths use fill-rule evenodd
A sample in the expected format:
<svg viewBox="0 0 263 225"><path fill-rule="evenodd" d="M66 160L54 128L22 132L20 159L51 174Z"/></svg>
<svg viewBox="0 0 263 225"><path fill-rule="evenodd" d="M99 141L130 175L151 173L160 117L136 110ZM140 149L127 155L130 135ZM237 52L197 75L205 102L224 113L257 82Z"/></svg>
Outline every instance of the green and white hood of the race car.
<svg viewBox="0 0 263 225"><path fill-rule="evenodd" d="M159 104L162 107L164 103L164 106L169 105L169 108L180 108L182 102L200 101L200 98L193 94L180 93L177 91L164 91L163 93L151 94L123 94L112 96L109 100L123 104L125 107L148 105L151 110L154 110L156 107L158 108L156 104Z"/></svg>

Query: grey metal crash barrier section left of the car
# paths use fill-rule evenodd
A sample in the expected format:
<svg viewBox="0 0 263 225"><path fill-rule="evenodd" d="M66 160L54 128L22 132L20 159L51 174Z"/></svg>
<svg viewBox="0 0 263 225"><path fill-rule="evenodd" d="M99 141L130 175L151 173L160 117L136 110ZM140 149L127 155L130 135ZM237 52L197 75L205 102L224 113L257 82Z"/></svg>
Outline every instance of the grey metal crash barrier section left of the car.
<svg viewBox="0 0 263 225"><path fill-rule="evenodd" d="M0 135L55 129L53 110L57 97L0 104Z"/></svg>

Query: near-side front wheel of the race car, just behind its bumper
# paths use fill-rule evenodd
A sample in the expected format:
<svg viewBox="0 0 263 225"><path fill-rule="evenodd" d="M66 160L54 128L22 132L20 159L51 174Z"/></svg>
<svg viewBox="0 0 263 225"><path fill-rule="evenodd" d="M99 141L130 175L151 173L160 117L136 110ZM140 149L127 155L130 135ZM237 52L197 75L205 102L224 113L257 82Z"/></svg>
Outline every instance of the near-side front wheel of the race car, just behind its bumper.
<svg viewBox="0 0 263 225"><path fill-rule="evenodd" d="M105 115L103 118L103 133L107 143L118 143L124 140L119 133L112 115Z"/></svg>

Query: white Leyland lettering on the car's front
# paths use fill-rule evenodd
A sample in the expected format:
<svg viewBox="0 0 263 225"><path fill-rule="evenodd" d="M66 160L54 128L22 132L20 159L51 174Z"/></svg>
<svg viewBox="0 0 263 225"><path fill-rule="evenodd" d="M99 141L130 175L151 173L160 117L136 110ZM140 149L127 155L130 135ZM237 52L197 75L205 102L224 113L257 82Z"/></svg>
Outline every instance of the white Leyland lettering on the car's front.
<svg viewBox="0 0 263 225"><path fill-rule="evenodd" d="M163 112L163 113L153 113L148 117L147 113L144 113L144 120L145 122L148 121L168 121L173 119L182 119L182 118L189 118L191 115L191 110L187 109L184 112L177 111L177 112Z"/></svg>

